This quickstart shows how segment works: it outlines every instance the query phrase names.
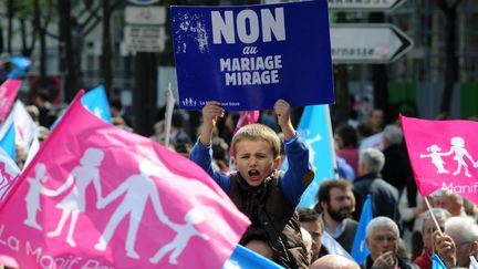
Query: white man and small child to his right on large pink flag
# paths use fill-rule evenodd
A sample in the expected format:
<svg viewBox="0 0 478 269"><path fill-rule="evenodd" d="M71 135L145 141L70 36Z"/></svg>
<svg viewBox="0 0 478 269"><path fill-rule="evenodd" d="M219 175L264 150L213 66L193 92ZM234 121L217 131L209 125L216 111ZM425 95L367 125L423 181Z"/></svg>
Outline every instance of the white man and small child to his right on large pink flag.
<svg viewBox="0 0 478 269"><path fill-rule="evenodd" d="M158 262L164 255L172 251L169 262L176 265L177 257L183 252L190 237L200 236L205 240L208 239L207 236L200 234L194 227L195 224L199 224L205 220L202 211L198 209L191 209L190 211L188 211L185 217L185 225L174 224L166 216L160 203L156 185L150 178L150 176L159 174L164 175L165 172L158 170L158 167L156 165L154 165L147 159L143 159L139 162L139 174L129 176L112 193L104 197L104 199L98 200L97 207L104 208L114 199L125 194L123 201L113 213L113 216L110 218L110 221L107 223L102 236L100 237L98 242L95 245L95 249L100 251L106 250L106 246L112 239L117 226L124 218L127 217L127 215L129 215L125 251L127 257L133 259L139 259L139 255L134 250L134 246L136 241L137 230L139 228L143 213L148 199L150 199L159 220L165 225L169 226L175 231L177 231L177 235L173 239L173 241L165 245L162 249L158 250L155 257L150 259L152 262Z"/></svg>

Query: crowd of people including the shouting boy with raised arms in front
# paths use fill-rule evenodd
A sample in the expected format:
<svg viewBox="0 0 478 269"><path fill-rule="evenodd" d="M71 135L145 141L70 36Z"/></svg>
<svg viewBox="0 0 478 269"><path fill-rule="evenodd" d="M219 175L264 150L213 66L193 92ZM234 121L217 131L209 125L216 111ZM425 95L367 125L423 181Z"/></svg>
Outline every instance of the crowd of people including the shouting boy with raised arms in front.
<svg viewBox="0 0 478 269"><path fill-rule="evenodd" d="M48 136L51 104L41 94L28 111ZM132 131L113 102L113 124ZM323 180L314 208L297 208L314 178L309 148L298 135L290 105L280 100L261 112L259 124L238 127L239 113L217 102L202 110L197 139L187 132L187 115L172 115L169 147L201 166L229 195L252 225L240 244L285 268L432 268L437 254L448 268L468 268L478 255L477 208L448 189L428 198L417 192L398 124L383 126L383 112L334 128L337 178ZM165 144L165 121L152 139ZM17 154L21 167L24 154ZM320 154L316 154L320 155ZM288 158L288 169L281 164ZM319 156L320 157L320 156ZM370 255L362 265L350 254L363 205L372 197L373 219L366 228ZM432 213L437 223L434 221ZM438 225L438 226L437 226ZM331 241L335 246L331 246Z"/></svg>

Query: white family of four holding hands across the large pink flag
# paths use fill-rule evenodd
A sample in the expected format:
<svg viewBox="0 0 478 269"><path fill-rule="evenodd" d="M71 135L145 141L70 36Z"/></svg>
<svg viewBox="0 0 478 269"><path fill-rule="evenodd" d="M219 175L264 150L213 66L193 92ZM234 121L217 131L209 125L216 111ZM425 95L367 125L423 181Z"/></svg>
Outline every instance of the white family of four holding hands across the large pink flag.
<svg viewBox="0 0 478 269"><path fill-rule="evenodd" d="M60 236L66 220L71 218L66 242L71 247L75 247L76 244L73 239L75 225L80 213L84 213L85 210L86 188L91 183L93 183L97 195L96 206L98 209L106 207L111 201L125 194L123 201L114 210L102 236L95 245L95 249L104 251L119 223L126 218L127 215L129 215L125 250L129 258L139 259L139 255L134 250L134 246L136 241L136 234L143 218L143 213L149 198L159 220L177 232L173 241L160 248L155 257L150 259L152 262L158 262L169 251L172 251L169 262L177 262L177 257L183 252L189 238L193 236L199 236L205 240L208 240L206 235L200 234L194 227L195 224L199 224L205 220L202 211L198 209L189 210L186 214L186 224L184 225L172 223L165 215L156 185L150 178L152 175L158 175L159 173L163 175L165 172L158 170L158 167L149 161L141 161L139 174L129 176L117 188L102 198L98 167L103 158L104 153L101 149L87 148L84 152L83 157L80 159L80 165L72 169L66 182L55 190L51 190L42 185L42 183L46 182L48 179L45 175L46 168L43 164L38 164L35 167L35 177L28 179L30 183L30 188L25 196L28 217L24 220L24 224L41 230L42 227L37 223L37 213L40 210L40 195L53 197L59 196L66 189L71 189L70 193L56 205L56 208L62 209L62 216L59 220L56 229L52 232L48 232L48 236ZM176 175L172 173L166 174L170 175L168 178L176 177Z"/></svg>

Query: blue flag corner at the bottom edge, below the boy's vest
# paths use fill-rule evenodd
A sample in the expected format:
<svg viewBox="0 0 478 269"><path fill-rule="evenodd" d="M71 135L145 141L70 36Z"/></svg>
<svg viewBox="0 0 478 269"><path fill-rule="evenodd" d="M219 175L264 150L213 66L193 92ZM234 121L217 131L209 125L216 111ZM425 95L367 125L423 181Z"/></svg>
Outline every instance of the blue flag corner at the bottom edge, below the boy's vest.
<svg viewBox="0 0 478 269"><path fill-rule="evenodd" d="M232 252L229 260L226 261L224 269L249 269L249 268L283 268L278 263L256 254L240 245L238 245Z"/></svg>

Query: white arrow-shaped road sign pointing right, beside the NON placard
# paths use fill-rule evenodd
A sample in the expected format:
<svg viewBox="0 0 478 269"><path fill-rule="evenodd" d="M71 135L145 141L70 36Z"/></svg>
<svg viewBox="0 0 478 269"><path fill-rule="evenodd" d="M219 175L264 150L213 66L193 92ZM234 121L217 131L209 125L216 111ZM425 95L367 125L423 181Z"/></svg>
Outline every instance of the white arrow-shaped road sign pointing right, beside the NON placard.
<svg viewBox="0 0 478 269"><path fill-rule="evenodd" d="M388 23L331 24L331 50L334 63L391 63L414 42Z"/></svg>

